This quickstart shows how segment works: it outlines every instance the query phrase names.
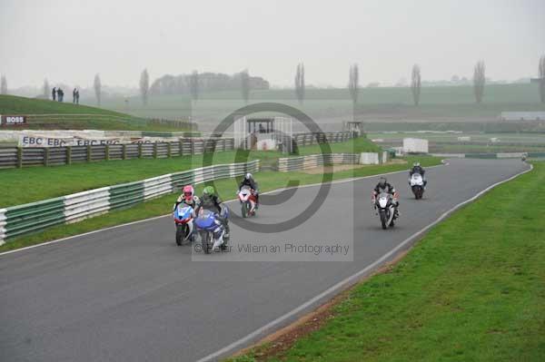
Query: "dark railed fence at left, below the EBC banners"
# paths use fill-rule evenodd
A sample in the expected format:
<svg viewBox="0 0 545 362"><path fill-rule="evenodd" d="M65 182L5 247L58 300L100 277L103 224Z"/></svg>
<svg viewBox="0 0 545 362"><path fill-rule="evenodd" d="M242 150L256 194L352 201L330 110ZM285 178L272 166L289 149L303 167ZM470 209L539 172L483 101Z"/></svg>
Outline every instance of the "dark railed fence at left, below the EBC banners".
<svg viewBox="0 0 545 362"><path fill-rule="evenodd" d="M72 162L167 158L231 151L233 138L185 138L179 142L124 143L66 147L0 148L0 168L54 166Z"/></svg>

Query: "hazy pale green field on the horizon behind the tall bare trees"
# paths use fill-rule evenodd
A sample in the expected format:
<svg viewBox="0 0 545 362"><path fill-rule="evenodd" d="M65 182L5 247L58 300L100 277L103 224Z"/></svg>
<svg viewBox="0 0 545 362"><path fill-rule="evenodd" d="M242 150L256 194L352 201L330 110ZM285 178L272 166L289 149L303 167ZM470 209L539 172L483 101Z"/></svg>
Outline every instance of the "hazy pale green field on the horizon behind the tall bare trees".
<svg viewBox="0 0 545 362"><path fill-rule="evenodd" d="M193 106L187 95L152 96L144 107L138 97L104 100L104 107L138 116L179 118L193 114L199 119L217 114L226 115L244 105L235 91L202 93ZM280 102L302 109L312 117L338 118L352 114L352 103L346 89L308 88L305 102L299 104L291 89L253 91L250 103ZM358 102L358 118L378 120L441 120L471 117L495 118L503 111L544 111L536 84L489 84L483 103L476 104L471 86L422 87L421 105L412 103L407 87L362 88Z"/></svg>

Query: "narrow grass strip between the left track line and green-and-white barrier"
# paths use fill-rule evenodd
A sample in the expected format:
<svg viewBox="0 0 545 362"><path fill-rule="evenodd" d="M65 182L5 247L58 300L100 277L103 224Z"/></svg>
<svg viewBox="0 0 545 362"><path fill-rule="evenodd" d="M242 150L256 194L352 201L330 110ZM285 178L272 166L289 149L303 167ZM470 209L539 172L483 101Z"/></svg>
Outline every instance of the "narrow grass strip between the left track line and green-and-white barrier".
<svg viewBox="0 0 545 362"><path fill-rule="evenodd" d="M413 159L409 159L408 161L411 162ZM421 163L424 166L436 165L440 162L440 159L433 157L421 159ZM353 170L335 172L332 174L332 179L341 180L351 177L376 175L391 171L405 171L407 170L407 167L407 164L363 166ZM271 191L282 188L287 185L288 181L299 181L300 184L317 183L322 181L322 174L308 174L304 172L281 173L265 171L258 172L254 176L256 180L259 181L261 191ZM238 186L237 182L238 181L234 179L224 179L216 181L214 185L220 197L222 197L223 200L229 200L234 198L233 190L236 190ZM203 185L198 185L196 187L198 193L200 193L202 189ZM164 215L172 210L173 201L176 196L177 195L174 194L165 195L161 198L135 205L134 207L126 210L114 210L92 219L83 220L73 224L58 225L45 231L25 235L15 238L14 240L8 240L5 245L0 246L0 251L19 249L48 240L56 240L88 231L104 229L126 222Z"/></svg>

